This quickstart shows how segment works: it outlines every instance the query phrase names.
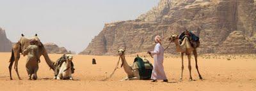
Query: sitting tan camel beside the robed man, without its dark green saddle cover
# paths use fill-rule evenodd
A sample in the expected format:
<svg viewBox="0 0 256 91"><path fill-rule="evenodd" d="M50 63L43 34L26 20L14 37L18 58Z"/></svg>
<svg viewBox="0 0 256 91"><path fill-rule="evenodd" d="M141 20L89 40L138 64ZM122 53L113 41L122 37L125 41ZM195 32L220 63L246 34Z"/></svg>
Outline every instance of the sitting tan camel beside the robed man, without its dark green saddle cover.
<svg viewBox="0 0 256 91"><path fill-rule="evenodd" d="M138 64L136 64L136 62L134 62L134 64L132 66L129 66L129 64L125 60L125 50L123 50L123 49L118 50L118 55L120 55L120 58L122 60L121 67L124 66L124 71L127 74L127 78L124 78L124 80L145 79L145 78L142 78L142 76L140 76L140 69L138 68ZM150 70L152 72L152 68ZM150 74L150 76L151 76L151 74ZM146 79L148 79L148 78L146 78ZM123 80L121 80L121 81L123 81Z"/></svg>

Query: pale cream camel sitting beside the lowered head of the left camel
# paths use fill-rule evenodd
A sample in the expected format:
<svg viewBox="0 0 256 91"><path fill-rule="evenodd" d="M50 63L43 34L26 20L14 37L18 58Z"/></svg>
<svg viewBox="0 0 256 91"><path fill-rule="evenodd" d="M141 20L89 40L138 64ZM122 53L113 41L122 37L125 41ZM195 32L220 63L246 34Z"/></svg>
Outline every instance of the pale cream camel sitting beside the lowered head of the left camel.
<svg viewBox="0 0 256 91"><path fill-rule="evenodd" d="M66 55L67 61L63 62L60 67L60 71L57 76L57 80L73 80L71 71L71 61L73 59L72 55Z"/></svg>

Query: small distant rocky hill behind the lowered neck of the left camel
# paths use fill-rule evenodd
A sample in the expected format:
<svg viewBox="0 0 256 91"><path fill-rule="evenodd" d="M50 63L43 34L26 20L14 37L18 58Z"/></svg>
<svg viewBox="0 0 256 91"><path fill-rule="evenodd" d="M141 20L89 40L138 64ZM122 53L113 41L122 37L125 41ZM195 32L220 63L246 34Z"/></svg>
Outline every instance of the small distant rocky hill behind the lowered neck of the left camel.
<svg viewBox="0 0 256 91"><path fill-rule="evenodd" d="M59 47L58 45L54 44L54 43L45 43L44 44L47 53L66 53L66 54L70 54L71 52L68 52L66 48L64 47Z"/></svg>

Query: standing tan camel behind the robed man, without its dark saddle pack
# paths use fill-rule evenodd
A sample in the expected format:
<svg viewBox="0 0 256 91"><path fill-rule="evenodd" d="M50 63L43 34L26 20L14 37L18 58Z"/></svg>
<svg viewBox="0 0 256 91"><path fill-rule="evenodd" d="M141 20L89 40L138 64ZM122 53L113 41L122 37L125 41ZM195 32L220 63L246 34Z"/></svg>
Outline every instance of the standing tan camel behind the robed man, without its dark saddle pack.
<svg viewBox="0 0 256 91"><path fill-rule="evenodd" d="M184 36L185 38L183 39L181 45L179 45L179 38L178 35L174 34L172 36L170 36L169 41L172 43L175 43L176 46L176 51L181 53L181 76L180 76L180 81L182 81L182 76L183 76L183 69L184 69L184 64L183 64L183 56L184 53L186 53L186 55L188 55L188 69L189 69L189 81L192 81L192 76L191 76L191 52L193 52L194 57L195 57L195 63L196 63L196 70L197 73L199 75L200 80L202 80L202 76L198 71L198 65L197 65L197 51L196 48L193 48L191 46L191 43L189 42L188 37L189 36Z"/></svg>

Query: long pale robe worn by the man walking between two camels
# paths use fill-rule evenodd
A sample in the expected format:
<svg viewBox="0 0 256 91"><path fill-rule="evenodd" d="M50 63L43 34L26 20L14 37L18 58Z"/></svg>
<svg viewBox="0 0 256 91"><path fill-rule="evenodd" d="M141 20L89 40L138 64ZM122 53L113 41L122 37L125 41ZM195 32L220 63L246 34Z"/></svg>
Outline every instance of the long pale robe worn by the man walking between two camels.
<svg viewBox="0 0 256 91"><path fill-rule="evenodd" d="M154 49L154 52L151 52L151 55L154 56L154 68L152 71L151 79L152 80L167 80L164 73L163 60L164 60L164 48L157 43Z"/></svg>

